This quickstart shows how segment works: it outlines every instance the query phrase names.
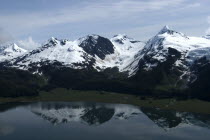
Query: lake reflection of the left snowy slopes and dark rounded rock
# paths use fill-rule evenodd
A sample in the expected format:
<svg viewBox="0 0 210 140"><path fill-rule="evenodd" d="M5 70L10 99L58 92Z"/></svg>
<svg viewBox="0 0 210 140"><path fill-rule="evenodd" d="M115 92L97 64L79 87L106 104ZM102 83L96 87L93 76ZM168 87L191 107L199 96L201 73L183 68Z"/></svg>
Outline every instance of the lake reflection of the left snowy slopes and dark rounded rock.
<svg viewBox="0 0 210 140"><path fill-rule="evenodd" d="M129 105L83 104L83 103L39 103L30 110L52 124L81 122L100 125L114 119L128 119L141 113L140 109Z"/></svg>

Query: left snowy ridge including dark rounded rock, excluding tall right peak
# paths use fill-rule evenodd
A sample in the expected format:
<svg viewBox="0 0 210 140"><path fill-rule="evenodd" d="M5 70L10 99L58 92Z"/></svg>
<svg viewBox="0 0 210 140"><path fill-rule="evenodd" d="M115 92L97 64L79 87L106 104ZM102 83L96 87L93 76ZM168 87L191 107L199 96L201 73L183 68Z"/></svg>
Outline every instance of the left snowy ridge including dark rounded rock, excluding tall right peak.
<svg viewBox="0 0 210 140"><path fill-rule="evenodd" d="M122 39L121 42L118 42L120 39ZM124 45L125 43L127 44ZM13 59L10 65L14 64L17 68L27 70L28 65L32 63L49 60L51 62L59 61L67 67L78 69L94 63L92 67L100 71L108 67L125 65L123 60L131 59L129 52L126 54L126 51L131 50L130 53L135 53L134 49L138 49L138 47L141 49L143 44L141 41L123 35L115 36L110 40L99 35L88 35L75 41L58 40L52 37L43 46ZM132 48L134 49L132 50ZM123 68L120 70L125 71Z"/></svg>

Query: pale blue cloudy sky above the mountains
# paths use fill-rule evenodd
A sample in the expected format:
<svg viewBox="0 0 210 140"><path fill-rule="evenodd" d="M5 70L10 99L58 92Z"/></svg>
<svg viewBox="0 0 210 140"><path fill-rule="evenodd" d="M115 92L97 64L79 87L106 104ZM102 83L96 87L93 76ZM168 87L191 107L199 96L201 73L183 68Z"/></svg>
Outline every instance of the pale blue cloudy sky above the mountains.
<svg viewBox="0 0 210 140"><path fill-rule="evenodd" d="M164 25L189 36L210 34L210 0L0 0L0 44L27 49L50 37L127 34L146 41Z"/></svg>

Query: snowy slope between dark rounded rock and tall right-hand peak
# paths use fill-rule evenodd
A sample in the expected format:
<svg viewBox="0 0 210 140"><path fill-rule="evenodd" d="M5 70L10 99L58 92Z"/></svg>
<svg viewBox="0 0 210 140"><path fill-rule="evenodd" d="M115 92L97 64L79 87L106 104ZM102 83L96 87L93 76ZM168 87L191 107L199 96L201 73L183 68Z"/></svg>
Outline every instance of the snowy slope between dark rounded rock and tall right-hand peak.
<svg viewBox="0 0 210 140"><path fill-rule="evenodd" d="M131 73L132 69L128 64L134 61L135 55L143 49L145 43L121 34L111 38L111 42L114 45L114 53L107 55L104 60L96 59L95 67L118 67L120 72Z"/></svg>

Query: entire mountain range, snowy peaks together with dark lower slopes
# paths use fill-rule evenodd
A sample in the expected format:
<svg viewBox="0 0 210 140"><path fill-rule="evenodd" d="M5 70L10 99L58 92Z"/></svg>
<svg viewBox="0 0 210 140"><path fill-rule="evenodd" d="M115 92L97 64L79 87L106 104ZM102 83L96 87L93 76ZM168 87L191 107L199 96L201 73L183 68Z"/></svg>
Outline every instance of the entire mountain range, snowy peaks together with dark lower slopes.
<svg viewBox="0 0 210 140"><path fill-rule="evenodd" d="M114 91L135 93L207 93L209 60L209 35L190 37L168 26L146 42L120 34L88 35L75 41L52 37L32 51L16 44L0 47L2 68L44 76L51 85L110 91L104 82L114 80L113 89L123 87Z"/></svg>

